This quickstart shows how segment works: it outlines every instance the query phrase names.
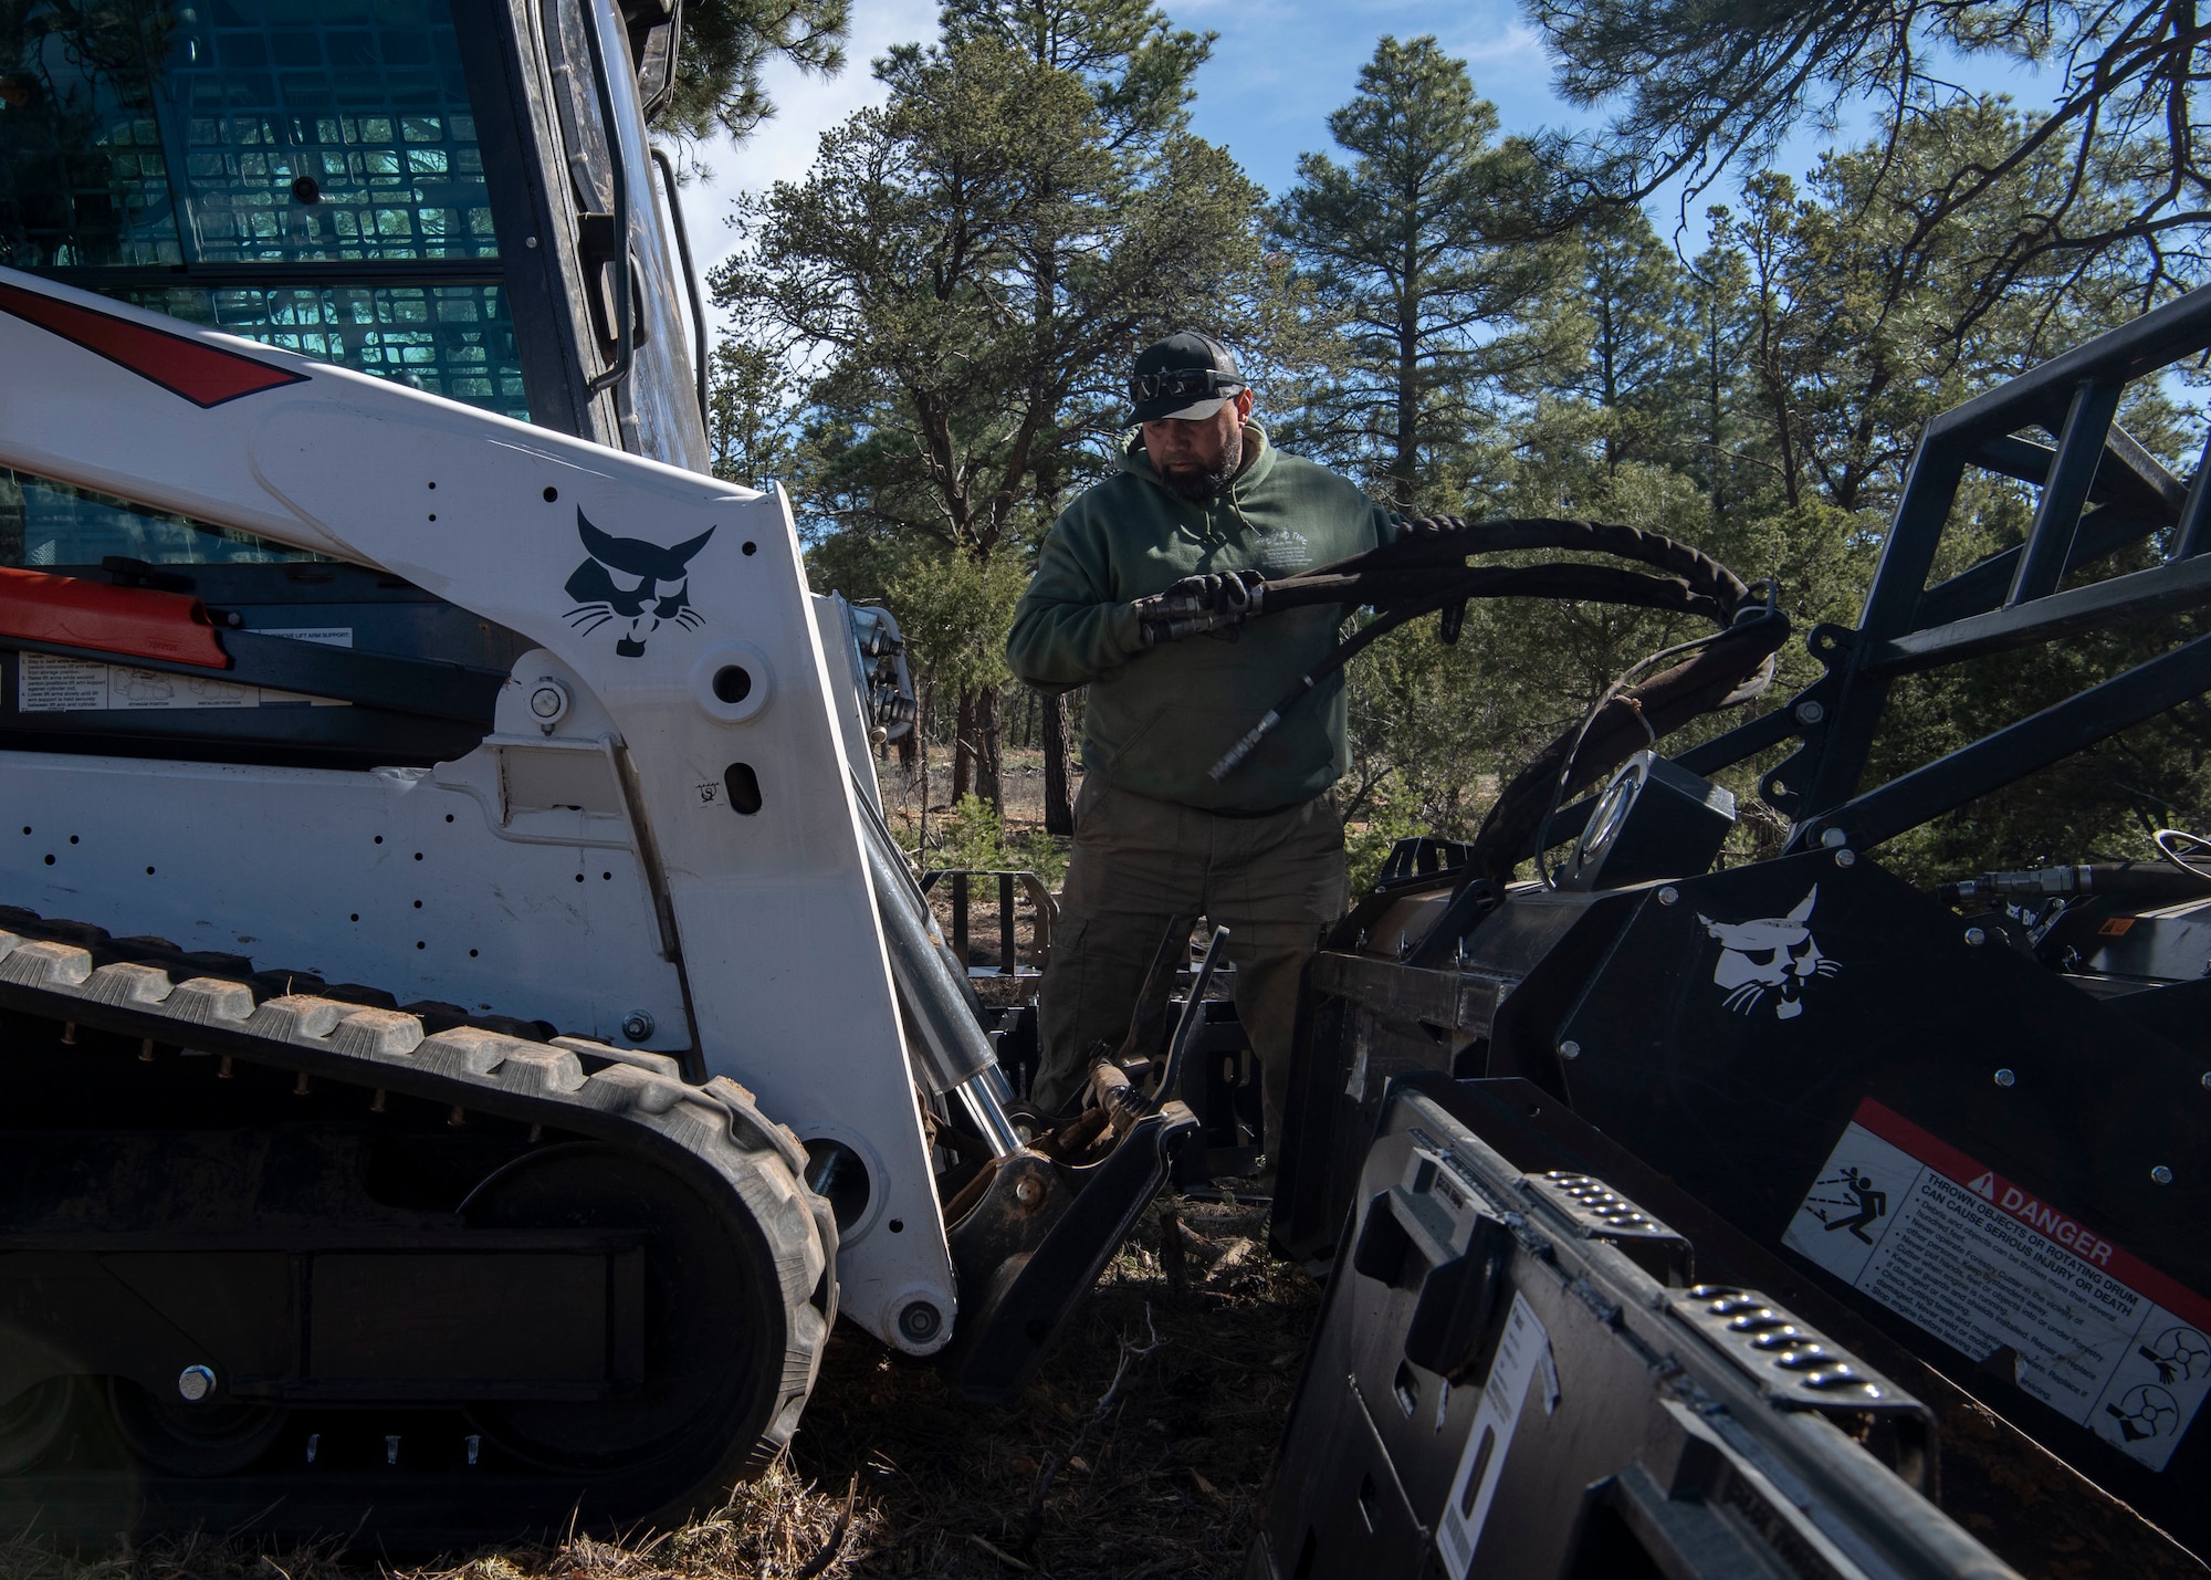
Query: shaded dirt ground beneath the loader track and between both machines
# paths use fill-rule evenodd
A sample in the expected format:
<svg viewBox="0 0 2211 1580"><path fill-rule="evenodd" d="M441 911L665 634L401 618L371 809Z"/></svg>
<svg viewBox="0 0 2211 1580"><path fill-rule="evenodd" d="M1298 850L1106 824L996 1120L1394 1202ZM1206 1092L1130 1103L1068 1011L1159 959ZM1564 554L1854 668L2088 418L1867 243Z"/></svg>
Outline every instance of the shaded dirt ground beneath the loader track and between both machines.
<svg viewBox="0 0 2211 1580"><path fill-rule="evenodd" d="M1201 1202L1172 1204L1187 1277L1170 1288L1167 1206L1017 1407L962 1403L926 1363L840 1330L787 1458L681 1531L411 1569L221 1534L106 1553L18 1536L0 1540L0 1580L1232 1580L1320 1290L1267 1255L1262 1206Z"/></svg>

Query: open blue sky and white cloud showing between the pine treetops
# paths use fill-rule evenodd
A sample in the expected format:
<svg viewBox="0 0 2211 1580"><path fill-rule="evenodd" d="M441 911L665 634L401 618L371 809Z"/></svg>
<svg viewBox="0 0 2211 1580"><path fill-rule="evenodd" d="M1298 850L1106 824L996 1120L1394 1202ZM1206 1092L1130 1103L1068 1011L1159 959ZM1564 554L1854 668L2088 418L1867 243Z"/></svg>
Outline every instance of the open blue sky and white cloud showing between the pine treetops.
<svg viewBox="0 0 2211 1580"><path fill-rule="evenodd" d="M1214 58L1198 71L1192 106L1201 137L1225 144L1243 168L1274 193L1296 177L1298 155L1329 146L1327 117L1351 97L1358 69L1373 55L1382 33L1417 38L1435 33L1446 51L1466 62L1475 91L1497 104L1506 133L1537 126L1585 128L1603 122L1603 111L1576 111L1552 93L1554 64L1543 40L1515 0L1163 0L1178 27L1209 29L1220 38ZM769 95L778 113L743 146L727 142L701 148L712 179L685 188L683 212L699 250L699 266L730 252L725 217L730 199L747 188L805 175L820 133L862 104L880 97L869 60L891 44L935 38L937 0L853 0L851 64L831 80L796 71L769 73ZM1977 64L1959 73L1977 89L2014 93L2021 104L2045 104L2047 84L2030 73ZM1868 119L1846 117L1846 133L1866 135ZM1824 137L1800 133L1782 164L1802 173ZM1691 206L1700 215L1714 193ZM1678 204L1654 199L1660 235L1672 235ZM1696 232L1685 237L1694 246Z"/></svg>

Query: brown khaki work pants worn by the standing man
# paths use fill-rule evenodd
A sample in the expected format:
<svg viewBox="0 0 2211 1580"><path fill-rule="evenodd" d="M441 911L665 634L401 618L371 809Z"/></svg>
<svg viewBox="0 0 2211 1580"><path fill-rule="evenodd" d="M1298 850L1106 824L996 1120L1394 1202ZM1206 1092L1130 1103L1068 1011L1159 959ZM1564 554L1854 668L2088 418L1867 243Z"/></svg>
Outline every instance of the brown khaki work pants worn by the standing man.
<svg viewBox="0 0 2211 1580"><path fill-rule="evenodd" d="M1344 914L1344 819L1333 794L1223 817L1086 779L1030 1098L1048 1113L1079 1102L1090 1044L1121 1047L1167 923L1194 914L1229 929L1236 1016L1258 1056L1271 1153L1289 1095L1298 978L1320 932Z"/></svg>

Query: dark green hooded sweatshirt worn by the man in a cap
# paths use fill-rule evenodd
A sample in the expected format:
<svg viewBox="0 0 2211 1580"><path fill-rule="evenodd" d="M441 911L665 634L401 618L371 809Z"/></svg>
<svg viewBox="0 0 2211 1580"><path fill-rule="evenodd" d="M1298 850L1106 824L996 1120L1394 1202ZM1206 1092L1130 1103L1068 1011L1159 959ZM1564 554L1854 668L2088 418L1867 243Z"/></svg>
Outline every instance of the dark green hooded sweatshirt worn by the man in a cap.
<svg viewBox="0 0 2211 1580"><path fill-rule="evenodd" d="M1090 686L1083 768L1117 790L1207 812L1298 805L1351 766L1340 673L1282 715L1227 783L1205 770L1327 657L1349 609L1291 609L1148 648L1134 602L1201 571L1293 575L1393 536L1389 511L1285 456L1258 425L1245 425L1243 471L1207 505L1170 491L1132 436L1119 476L1086 489L1044 540L1006 662L1044 690Z"/></svg>

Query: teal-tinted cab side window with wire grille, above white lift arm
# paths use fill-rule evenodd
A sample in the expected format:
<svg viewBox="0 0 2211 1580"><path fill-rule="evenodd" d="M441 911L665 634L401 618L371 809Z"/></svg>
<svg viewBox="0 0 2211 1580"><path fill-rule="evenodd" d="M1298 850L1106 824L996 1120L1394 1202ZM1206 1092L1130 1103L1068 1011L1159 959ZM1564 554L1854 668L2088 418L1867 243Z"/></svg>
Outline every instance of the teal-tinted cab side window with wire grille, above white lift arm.
<svg viewBox="0 0 2211 1580"><path fill-rule="evenodd" d="M528 418L451 0L0 11L0 263Z"/></svg>

